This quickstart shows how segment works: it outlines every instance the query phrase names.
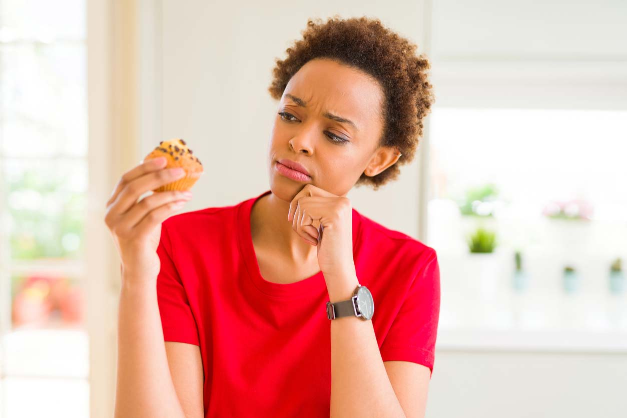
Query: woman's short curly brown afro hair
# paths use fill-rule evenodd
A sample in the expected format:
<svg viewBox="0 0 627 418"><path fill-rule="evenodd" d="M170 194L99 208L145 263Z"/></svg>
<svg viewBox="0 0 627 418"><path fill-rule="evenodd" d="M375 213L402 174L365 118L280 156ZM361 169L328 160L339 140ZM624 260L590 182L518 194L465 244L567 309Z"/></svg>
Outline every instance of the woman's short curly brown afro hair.
<svg viewBox="0 0 627 418"><path fill-rule="evenodd" d="M379 146L396 147L401 157L377 175L362 173L359 177L357 186L369 184L376 191L399 176L398 165L414 159L423 135L423 118L434 102L426 73L429 61L415 55L416 44L385 28L376 18L341 19L336 14L324 23L319 18L308 19L302 34L302 39L287 48L285 60L275 60L268 91L280 100L292 76L314 58L335 60L377 80L384 92Z"/></svg>

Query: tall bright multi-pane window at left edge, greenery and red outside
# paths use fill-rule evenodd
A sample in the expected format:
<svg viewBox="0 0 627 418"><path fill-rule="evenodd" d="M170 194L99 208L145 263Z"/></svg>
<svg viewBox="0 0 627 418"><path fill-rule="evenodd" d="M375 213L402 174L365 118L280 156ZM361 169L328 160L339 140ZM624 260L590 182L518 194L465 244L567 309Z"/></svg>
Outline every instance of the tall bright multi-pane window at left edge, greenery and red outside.
<svg viewBox="0 0 627 418"><path fill-rule="evenodd" d="M89 415L85 13L83 0L0 0L0 415L7 418Z"/></svg>

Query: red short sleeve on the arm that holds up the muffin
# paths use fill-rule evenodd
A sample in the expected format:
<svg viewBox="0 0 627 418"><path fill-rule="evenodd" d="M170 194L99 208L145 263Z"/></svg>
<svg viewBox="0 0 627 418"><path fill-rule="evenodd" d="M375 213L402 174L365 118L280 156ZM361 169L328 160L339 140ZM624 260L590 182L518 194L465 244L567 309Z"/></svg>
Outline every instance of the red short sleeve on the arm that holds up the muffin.
<svg viewBox="0 0 627 418"><path fill-rule="evenodd" d="M181 277L172 261L172 245L164 224L161 226L157 254L161 260L161 270L157 276L157 301L164 341L200 345L198 326Z"/></svg>

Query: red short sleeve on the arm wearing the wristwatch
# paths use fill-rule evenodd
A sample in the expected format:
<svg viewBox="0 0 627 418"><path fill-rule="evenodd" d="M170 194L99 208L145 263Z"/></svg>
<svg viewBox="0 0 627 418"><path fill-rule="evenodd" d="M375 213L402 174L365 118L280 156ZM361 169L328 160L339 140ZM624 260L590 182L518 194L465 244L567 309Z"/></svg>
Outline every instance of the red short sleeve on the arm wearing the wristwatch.
<svg viewBox="0 0 627 418"><path fill-rule="evenodd" d="M381 357L429 367L433 375L435 341L440 318L440 266L432 249L420 268L381 345Z"/></svg>

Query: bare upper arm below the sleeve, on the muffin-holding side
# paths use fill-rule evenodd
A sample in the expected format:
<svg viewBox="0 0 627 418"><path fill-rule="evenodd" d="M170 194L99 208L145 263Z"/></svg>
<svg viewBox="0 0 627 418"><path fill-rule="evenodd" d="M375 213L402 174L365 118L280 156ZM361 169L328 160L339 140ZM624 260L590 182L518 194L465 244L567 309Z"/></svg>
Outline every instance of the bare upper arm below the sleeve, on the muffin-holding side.
<svg viewBox="0 0 627 418"><path fill-rule="evenodd" d="M204 370L200 347L166 341L166 355L174 389L186 418L203 418Z"/></svg>

